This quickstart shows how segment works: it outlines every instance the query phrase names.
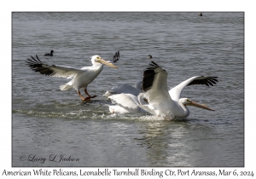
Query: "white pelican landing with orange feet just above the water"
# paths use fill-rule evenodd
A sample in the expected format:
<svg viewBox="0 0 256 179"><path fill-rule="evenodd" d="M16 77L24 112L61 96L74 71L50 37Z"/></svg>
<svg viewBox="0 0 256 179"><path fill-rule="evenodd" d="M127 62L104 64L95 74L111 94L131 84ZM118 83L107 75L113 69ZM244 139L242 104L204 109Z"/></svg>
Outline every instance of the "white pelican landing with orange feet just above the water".
<svg viewBox="0 0 256 179"><path fill-rule="evenodd" d="M44 74L46 76L51 77L57 77L57 78L72 78L70 82L67 84L61 85L61 90L70 90L75 89L77 90L77 93L81 97L83 101L90 101L90 98L95 98L97 95L89 95L87 92L87 85L90 84L99 74L102 72L103 64L118 68L118 66L114 66L112 63L108 61L104 61L102 57L99 55L94 55L91 57L91 63L92 66L85 66L81 69L73 68L70 66L49 66L41 62L38 58L33 58L32 60L27 59L26 61L27 65L31 67L32 71L34 72L40 72L41 74ZM116 62L119 60L119 51L113 55L113 62ZM88 96L85 97L81 95L79 89L84 89L84 93Z"/></svg>

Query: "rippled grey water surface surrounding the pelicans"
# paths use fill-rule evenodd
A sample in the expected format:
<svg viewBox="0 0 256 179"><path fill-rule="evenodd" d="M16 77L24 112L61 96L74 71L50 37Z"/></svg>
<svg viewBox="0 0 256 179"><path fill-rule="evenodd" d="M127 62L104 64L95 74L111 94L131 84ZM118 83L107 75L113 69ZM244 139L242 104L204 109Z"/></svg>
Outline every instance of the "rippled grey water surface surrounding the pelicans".
<svg viewBox="0 0 256 179"><path fill-rule="evenodd" d="M68 79L26 66L38 55L80 68L117 50L119 69L104 66L87 103L59 89ZM171 121L110 113L103 94L142 79L148 55L168 72L169 88L217 76L213 87L182 93L216 111L189 107L189 117ZM13 13L12 140L13 166L244 166L244 14ZM61 156L73 160L57 162Z"/></svg>

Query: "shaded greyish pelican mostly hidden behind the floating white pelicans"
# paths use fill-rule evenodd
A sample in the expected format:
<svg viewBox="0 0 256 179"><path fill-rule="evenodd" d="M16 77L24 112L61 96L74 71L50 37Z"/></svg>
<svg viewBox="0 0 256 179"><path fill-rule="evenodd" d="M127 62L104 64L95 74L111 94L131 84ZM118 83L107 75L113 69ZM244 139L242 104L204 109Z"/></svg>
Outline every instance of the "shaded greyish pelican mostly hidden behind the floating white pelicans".
<svg viewBox="0 0 256 179"><path fill-rule="evenodd" d="M131 86L130 84L118 84L112 87L110 90L104 94L105 96L114 95L114 94L131 94L131 95L139 95L143 92L143 81L138 81L135 86Z"/></svg>

